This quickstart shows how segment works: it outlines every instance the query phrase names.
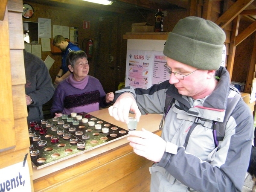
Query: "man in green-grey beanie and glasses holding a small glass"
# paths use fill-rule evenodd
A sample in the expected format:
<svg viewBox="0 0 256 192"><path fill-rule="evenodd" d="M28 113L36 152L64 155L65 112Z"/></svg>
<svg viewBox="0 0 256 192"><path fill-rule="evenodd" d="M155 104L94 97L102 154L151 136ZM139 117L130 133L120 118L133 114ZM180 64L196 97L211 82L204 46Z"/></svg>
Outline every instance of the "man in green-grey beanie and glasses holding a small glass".
<svg viewBox="0 0 256 192"><path fill-rule="evenodd" d="M150 168L151 192L241 192L253 139L253 117L241 98L221 124L225 134L217 146L213 134L224 121L228 98L239 96L220 67L225 38L212 21L181 19L163 50L169 81L148 90L116 91L109 108L116 120L128 123L129 111L138 120L141 114L164 114L161 137L145 129L129 131L134 152L156 162ZM166 98L171 98L167 110Z"/></svg>

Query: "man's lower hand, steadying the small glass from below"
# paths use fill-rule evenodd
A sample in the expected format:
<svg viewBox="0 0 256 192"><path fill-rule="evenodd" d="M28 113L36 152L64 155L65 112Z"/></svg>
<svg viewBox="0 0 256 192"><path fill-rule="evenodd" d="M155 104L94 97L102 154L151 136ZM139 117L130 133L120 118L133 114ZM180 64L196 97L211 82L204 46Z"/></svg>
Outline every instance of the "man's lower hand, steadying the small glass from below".
<svg viewBox="0 0 256 192"><path fill-rule="evenodd" d="M134 148L134 153L148 160L159 162L166 148L166 141L156 134L142 128L142 131L129 131L128 141Z"/></svg>

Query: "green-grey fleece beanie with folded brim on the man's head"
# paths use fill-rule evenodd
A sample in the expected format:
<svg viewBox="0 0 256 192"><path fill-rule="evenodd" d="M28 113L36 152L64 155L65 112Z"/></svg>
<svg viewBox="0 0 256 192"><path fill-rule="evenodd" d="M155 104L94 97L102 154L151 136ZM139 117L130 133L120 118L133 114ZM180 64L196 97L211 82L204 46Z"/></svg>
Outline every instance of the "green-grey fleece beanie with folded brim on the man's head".
<svg viewBox="0 0 256 192"><path fill-rule="evenodd" d="M210 20L186 17L169 33L163 54L202 70L218 70L226 35Z"/></svg>

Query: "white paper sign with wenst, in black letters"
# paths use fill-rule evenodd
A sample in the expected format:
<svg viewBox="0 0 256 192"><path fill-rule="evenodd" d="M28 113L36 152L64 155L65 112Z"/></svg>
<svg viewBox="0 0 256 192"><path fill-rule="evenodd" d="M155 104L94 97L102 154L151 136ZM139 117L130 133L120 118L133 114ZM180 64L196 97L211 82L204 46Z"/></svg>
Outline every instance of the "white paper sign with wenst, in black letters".
<svg viewBox="0 0 256 192"><path fill-rule="evenodd" d="M0 192L31 191L27 161L0 169Z"/></svg>

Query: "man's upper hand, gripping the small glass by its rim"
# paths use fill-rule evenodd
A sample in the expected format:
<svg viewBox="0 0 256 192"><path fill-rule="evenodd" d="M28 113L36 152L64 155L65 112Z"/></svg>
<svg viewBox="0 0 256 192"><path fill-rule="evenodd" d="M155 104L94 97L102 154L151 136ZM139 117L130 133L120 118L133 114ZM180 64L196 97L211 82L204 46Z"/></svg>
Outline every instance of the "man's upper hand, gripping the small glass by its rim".
<svg viewBox="0 0 256 192"><path fill-rule="evenodd" d="M137 121L140 120L140 110L131 93L123 93L120 95L115 104L108 108L110 116L113 116L117 121L129 122L129 111L134 112Z"/></svg>

